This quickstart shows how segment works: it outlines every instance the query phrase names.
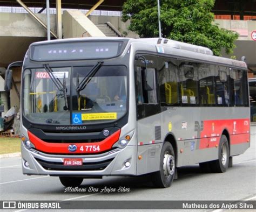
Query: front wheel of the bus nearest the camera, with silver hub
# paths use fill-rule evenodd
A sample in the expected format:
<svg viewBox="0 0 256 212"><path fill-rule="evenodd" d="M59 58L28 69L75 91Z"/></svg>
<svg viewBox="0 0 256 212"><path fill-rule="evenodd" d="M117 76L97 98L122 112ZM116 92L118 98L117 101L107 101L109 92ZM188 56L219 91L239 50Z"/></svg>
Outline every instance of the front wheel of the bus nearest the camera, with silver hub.
<svg viewBox="0 0 256 212"><path fill-rule="evenodd" d="M176 172L176 158L172 145L165 142L160 154L159 171L152 174L152 182L158 188L172 185Z"/></svg>

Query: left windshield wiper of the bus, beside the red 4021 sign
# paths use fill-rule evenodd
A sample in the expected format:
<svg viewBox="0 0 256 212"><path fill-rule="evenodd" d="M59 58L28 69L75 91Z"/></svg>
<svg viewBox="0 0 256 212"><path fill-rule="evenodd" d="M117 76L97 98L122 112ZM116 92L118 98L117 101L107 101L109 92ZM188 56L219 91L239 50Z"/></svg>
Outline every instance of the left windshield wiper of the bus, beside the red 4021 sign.
<svg viewBox="0 0 256 212"><path fill-rule="evenodd" d="M55 75L53 74L52 69L50 68L50 66L48 64L44 64L43 66L44 66L44 69L46 70L46 72L49 74L52 82L57 87L57 89L59 91L63 92L64 101L65 101L65 106L63 107L63 109L68 110L68 97L66 95L66 73L64 73L63 83L62 83L62 82L60 82L60 80L58 78L55 77Z"/></svg>

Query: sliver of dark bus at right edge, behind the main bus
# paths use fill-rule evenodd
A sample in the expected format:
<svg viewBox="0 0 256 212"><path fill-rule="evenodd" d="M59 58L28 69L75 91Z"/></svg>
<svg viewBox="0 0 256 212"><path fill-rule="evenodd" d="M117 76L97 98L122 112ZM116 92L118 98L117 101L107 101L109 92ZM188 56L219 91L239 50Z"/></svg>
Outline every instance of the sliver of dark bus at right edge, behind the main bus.
<svg viewBox="0 0 256 212"><path fill-rule="evenodd" d="M256 78L248 79L250 106L251 106L251 122L256 122Z"/></svg>

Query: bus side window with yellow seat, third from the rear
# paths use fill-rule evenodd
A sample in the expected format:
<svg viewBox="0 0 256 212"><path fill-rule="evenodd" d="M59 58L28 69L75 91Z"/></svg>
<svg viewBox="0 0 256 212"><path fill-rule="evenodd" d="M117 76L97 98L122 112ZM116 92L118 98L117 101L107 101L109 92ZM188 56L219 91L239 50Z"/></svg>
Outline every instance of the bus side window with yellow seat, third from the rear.
<svg viewBox="0 0 256 212"><path fill-rule="evenodd" d="M215 76L218 69L215 65L200 63L199 75L199 102L203 106L215 106Z"/></svg>

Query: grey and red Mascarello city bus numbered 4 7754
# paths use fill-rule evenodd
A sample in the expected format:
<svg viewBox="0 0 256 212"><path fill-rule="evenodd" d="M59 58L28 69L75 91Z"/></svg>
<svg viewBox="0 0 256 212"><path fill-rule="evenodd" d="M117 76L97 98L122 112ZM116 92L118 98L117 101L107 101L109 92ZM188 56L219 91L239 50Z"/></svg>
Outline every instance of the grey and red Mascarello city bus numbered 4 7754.
<svg viewBox="0 0 256 212"><path fill-rule="evenodd" d="M250 147L247 67L162 38L77 38L30 45L22 64L22 168L85 178L177 168L223 173ZM11 71L5 88L11 87Z"/></svg>

